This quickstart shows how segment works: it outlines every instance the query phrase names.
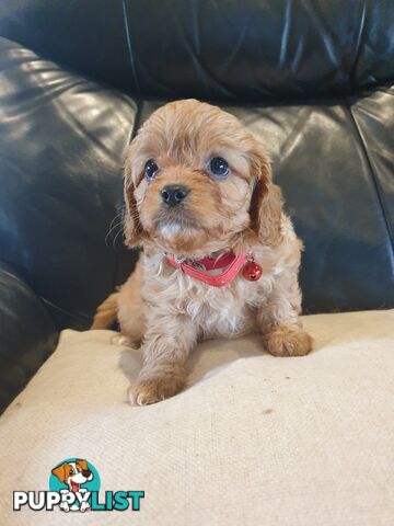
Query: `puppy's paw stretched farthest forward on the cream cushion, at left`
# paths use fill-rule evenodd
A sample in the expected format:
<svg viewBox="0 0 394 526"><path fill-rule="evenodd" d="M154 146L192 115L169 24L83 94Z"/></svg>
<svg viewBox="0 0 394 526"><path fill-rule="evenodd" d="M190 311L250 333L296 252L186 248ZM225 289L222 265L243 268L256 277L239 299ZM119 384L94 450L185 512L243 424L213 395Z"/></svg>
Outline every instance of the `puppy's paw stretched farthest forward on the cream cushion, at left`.
<svg viewBox="0 0 394 526"><path fill-rule="evenodd" d="M177 376L159 376L137 380L129 387L128 397L131 405L149 405L161 402L182 391L185 379Z"/></svg>

